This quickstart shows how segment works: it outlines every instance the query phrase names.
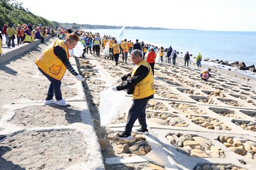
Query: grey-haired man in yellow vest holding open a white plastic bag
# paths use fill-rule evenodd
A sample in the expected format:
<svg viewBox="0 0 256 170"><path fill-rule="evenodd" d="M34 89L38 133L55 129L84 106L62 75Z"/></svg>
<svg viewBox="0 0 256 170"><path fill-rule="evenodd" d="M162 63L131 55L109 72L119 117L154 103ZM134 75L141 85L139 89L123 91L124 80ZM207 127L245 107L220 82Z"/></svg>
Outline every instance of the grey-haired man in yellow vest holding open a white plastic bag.
<svg viewBox="0 0 256 170"><path fill-rule="evenodd" d="M131 52L132 62L136 65L130 73L118 78L117 82L125 81L122 85L112 87L113 91L127 90L132 94L133 102L128 112L125 131L117 134L120 139L131 139L133 124L138 119L141 128L135 130L136 133L148 135L146 125L146 103L153 98L155 93L153 73L150 65L143 59L141 51L135 49Z"/></svg>

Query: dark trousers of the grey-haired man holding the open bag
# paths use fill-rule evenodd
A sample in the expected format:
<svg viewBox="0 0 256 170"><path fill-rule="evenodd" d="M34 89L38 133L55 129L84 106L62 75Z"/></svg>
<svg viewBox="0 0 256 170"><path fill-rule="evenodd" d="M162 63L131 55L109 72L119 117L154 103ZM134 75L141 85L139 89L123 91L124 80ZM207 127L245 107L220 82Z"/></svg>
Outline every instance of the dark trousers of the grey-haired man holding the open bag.
<svg viewBox="0 0 256 170"><path fill-rule="evenodd" d="M138 119L139 125L143 130L147 129L146 125L146 103L148 99L134 99L130 110L128 112L128 118L125 126L125 133L129 134L131 133L132 127L135 123L135 121Z"/></svg>

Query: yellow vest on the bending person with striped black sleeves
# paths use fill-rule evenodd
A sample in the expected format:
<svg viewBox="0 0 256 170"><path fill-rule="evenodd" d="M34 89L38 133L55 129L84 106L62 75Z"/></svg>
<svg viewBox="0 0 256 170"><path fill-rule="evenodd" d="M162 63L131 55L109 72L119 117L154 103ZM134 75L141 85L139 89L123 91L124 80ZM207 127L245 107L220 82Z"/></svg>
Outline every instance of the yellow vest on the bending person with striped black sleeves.
<svg viewBox="0 0 256 170"><path fill-rule="evenodd" d="M65 71L66 67L62 63L62 61L54 54L53 49L55 46L62 47L66 52L66 57L69 60L69 54L66 47L66 44L63 40L56 40L54 41L46 50L43 51L43 57L35 60L35 64L47 75L50 77L61 80Z"/></svg>

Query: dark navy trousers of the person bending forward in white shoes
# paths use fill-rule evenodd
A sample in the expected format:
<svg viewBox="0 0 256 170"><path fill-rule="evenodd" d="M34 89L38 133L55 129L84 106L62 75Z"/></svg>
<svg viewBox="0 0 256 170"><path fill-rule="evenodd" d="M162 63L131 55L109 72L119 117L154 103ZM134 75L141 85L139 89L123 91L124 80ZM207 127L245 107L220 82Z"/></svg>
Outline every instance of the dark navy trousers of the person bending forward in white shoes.
<svg viewBox="0 0 256 170"><path fill-rule="evenodd" d="M44 71L42 71L40 68L38 68L38 70L50 81L47 97L45 100L51 100L53 98L53 94L55 94L56 100L62 100L62 95L60 91L61 81L50 77L49 75L44 73Z"/></svg>

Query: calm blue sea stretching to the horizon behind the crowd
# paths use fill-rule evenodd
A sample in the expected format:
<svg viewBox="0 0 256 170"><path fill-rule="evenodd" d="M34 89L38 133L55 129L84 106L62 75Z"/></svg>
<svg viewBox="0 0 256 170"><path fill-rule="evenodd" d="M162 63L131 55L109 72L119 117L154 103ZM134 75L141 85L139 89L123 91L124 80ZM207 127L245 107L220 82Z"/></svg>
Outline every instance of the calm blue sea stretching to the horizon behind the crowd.
<svg viewBox="0 0 256 170"><path fill-rule="evenodd" d="M119 29L84 30L92 33L98 32L101 37L103 35L117 37L120 31ZM256 66L256 32L124 29L122 39L124 38L133 43L135 39L138 39L139 42L143 41L158 48L160 46L168 48L171 45L172 49L179 51L179 53L184 54L188 51L193 57L196 57L200 52L203 59L218 59L228 63L238 61L239 63L244 62L246 66L253 64ZM202 64L214 65L215 63L206 61ZM217 64L215 65L218 67ZM231 69L235 70L235 68Z"/></svg>

